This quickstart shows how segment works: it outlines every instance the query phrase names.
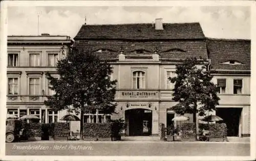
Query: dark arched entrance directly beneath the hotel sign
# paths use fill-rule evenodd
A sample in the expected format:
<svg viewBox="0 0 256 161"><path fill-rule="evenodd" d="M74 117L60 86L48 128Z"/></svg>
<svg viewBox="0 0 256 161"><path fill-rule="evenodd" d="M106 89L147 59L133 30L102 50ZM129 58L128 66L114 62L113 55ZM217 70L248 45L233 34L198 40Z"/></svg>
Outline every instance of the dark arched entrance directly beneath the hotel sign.
<svg viewBox="0 0 256 161"><path fill-rule="evenodd" d="M152 111L144 109L132 109L125 111L127 123L126 135L148 136L152 133Z"/></svg>

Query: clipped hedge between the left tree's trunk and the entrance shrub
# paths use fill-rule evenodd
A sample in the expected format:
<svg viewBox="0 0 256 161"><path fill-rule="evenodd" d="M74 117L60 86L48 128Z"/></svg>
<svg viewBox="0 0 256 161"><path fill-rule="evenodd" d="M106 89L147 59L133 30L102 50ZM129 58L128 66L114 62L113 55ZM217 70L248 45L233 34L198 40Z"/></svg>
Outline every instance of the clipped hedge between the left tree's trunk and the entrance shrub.
<svg viewBox="0 0 256 161"><path fill-rule="evenodd" d="M84 123L83 124L84 137L111 137L111 123Z"/></svg>

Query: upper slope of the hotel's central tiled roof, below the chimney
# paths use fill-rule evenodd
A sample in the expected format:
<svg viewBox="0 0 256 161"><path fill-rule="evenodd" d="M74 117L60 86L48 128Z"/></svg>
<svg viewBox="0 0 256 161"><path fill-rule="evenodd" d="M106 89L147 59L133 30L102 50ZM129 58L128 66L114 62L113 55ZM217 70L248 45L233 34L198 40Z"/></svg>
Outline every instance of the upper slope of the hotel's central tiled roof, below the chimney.
<svg viewBox="0 0 256 161"><path fill-rule="evenodd" d="M200 23L163 23L163 30L155 30L152 23L83 24L74 40L119 39L204 39Z"/></svg>

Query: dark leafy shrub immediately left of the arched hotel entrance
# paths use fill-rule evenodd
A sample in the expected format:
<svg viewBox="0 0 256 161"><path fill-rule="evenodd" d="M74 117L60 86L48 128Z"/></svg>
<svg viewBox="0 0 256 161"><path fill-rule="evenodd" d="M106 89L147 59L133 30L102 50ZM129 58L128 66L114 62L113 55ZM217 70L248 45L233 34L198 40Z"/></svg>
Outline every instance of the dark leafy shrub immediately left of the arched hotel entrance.
<svg viewBox="0 0 256 161"><path fill-rule="evenodd" d="M121 140L121 132L124 128L123 119L111 120L111 141Z"/></svg>

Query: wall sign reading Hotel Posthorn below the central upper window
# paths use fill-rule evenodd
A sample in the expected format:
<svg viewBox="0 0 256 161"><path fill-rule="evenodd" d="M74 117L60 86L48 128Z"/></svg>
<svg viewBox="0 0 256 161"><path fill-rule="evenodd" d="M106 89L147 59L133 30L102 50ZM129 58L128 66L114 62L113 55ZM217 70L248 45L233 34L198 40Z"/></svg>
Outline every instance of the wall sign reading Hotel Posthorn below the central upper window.
<svg viewBox="0 0 256 161"><path fill-rule="evenodd" d="M120 91L120 98L159 98L158 91Z"/></svg>

